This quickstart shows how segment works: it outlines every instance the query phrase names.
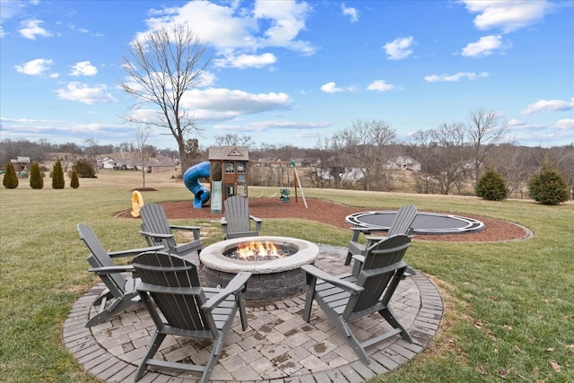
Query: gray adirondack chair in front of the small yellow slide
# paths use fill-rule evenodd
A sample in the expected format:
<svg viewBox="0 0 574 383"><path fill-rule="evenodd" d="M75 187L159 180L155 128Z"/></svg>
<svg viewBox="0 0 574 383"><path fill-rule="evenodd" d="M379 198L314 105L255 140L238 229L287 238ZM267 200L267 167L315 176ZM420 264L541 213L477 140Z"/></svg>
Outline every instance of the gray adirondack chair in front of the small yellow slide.
<svg viewBox="0 0 574 383"><path fill-rule="evenodd" d="M143 205L140 208L140 216L143 221L140 234L145 237L148 245L163 245L166 251L182 257L194 251L199 254L201 251L199 226L170 225L163 207L157 204ZM173 231L191 231L194 240L178 243Z"/></svg>

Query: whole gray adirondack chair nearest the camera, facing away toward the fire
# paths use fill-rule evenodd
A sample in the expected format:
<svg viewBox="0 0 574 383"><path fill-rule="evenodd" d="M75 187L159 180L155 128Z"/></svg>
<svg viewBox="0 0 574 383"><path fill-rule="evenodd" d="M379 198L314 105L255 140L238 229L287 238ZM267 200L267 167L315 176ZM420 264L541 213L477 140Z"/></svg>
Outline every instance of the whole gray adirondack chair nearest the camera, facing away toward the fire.
<svg viewBox="0 0 574 383"><path fill-rule="evenodd" d="M243 330L248 326L243 292L251 273L240 272L227 287L215 289L201 286L195 264L165 252L144 253L132 265L142 278L137 291L156 326L135 381L142 379L147 366L196 371L202 383L209 381L238 310ZM166 335L213 340L207 363L153 359Z"/></svg>

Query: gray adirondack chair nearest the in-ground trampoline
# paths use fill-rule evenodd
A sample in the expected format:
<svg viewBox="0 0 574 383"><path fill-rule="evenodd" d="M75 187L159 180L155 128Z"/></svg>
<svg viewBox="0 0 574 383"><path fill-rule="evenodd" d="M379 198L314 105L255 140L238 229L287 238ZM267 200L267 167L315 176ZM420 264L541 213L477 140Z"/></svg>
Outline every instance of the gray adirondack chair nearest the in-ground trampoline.
<svg viewBox="0 0 574 383"><path fill-rule="evenodd" d="M395 219L393 222L391 222L388 230L386 228L351 228L352 238L347 246L347 258L345 259L344 264L351 265L351 259L353 256L364 255L366 248L369 248L375 242L378 242L381 239L385 239L396 234L411 235L413 233L413 222L416 218L416 214L416 206L404 205L396 212ZM384 237L370 235L371 233L377 231L387 231L387 235ZM367 239L366 245L363 245L359 242L361 234L363 234Z"/></svg>

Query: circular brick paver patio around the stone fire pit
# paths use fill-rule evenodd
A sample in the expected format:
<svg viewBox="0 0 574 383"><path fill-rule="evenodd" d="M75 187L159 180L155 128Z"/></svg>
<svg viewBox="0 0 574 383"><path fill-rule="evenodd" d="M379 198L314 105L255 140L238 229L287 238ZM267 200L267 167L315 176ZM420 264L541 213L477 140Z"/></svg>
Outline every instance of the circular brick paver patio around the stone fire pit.
<svg viewBox="0 0 574 383"><path fill-rule="evenodd" d="M345 248L319 245L316 265L331 274L349 272L344 266ZM70 353L94 377L107 382L133 381L135 369L147 349L154 326L143 306L86 328L94 312L91 302L103 289L98 283L77 300L65 320L63 340ZM360 382L396 369L416 357L439 330L443 305L439 292L424 275L416 273L402 281L391 300L396 318L409 329L413 344L400 336L367 349L370 364L364 364L344 337L318 309L309 323L301 317L305 296L248 306L248 329L241 330L239 316L226 337L226 346L212 373L212 381ZM370 337L390 328L384 320L361 318L352 326L358 337ZM170 336L159 353L170 361L208 357L205 340ZM157 356L156 356L157 357ZM199 375L177 370L148 370L141 382L196 382Z"/></svg>

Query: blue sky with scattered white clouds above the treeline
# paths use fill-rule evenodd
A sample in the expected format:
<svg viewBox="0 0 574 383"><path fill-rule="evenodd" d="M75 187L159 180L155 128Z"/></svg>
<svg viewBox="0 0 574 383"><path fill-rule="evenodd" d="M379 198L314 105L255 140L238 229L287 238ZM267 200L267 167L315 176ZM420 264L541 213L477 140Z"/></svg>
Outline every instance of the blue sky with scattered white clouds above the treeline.
<svg viewBox="0 0 574 383"><path fill-rule="evenodd" d="M212 58L185 103L202 129L314 147L352 121L417 130L508 122L508 140L574 143L571 1L0 0L0 138L135 142L122 57L187 23ZM176 148L167 131L151 144Z"/></svg>

